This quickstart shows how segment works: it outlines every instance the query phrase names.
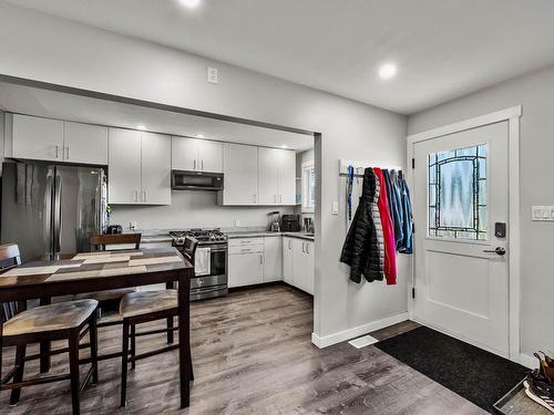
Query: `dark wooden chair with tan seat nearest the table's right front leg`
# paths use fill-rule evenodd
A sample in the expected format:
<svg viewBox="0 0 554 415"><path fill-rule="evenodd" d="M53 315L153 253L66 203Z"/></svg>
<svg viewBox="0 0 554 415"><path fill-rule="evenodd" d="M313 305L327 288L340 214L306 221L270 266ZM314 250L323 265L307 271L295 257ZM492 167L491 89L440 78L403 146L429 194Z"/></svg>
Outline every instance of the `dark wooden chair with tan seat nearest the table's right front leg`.
<svg viewBox="0 0 554 415"><path fill-rule="evenodd" d="M183 256L191 264L194 266L196 247L198 241L194 238L186 237L183 249ZM168 288L162 291L138 291L125 294L121 299L120 315L123 319L123 344L122 344L122 362L121 362L121 406L126 404L127 388L127 370L129 362L131 369L135 369L135 362L141 359L154 356L160 353L165 353L178 347L178 344L173 343L173 331L177 326L173 326L173 319L177 315L177 290ZM136 332L136 325L155 320L167 320L166 329L151 330L145 332ZM136 354L136 338L167 332L168 346L160 350ZM170 341L170 333L172 334ZM130 350L131 340L131 350ZM194 381L193 364L191 357L191 380Z"/></svg>

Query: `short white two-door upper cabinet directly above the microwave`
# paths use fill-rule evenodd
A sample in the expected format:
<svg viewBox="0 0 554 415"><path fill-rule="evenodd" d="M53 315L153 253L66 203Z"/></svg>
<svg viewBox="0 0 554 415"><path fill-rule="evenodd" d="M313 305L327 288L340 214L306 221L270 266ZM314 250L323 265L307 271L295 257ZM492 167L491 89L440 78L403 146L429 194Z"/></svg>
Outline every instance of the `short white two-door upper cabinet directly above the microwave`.
<svg viewBox="0 0 554 415"><path fill-rule="evenodd" d="M223 143L173 136L172 168L223 173Z"/></svg>

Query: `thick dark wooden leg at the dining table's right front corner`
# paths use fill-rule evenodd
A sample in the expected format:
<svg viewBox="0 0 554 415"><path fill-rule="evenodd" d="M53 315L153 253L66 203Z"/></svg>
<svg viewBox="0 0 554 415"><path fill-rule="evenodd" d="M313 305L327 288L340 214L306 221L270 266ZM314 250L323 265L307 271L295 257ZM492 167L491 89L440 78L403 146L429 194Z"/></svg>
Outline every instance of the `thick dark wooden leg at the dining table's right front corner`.
<svg viewBox="0 0 554 415"><path fill-rule="evenodd" d="M189 284L188 274L178 271L178 366L181 380L181 407L189 406L191 398L191 339L189 339Z"/></svg>

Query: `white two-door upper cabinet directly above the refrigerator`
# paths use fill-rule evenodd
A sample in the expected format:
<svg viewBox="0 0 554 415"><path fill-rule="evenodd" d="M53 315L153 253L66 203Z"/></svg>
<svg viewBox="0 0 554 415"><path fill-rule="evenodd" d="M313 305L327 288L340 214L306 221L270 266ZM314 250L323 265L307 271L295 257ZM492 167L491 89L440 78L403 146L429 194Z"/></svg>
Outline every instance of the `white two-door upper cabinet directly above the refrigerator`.
<svg viewBox="0 0 554 415"><path fill-rule="evenodd" d="M6 114L6 121L8 157L107 164L106 127L19 114Z"/></svg>

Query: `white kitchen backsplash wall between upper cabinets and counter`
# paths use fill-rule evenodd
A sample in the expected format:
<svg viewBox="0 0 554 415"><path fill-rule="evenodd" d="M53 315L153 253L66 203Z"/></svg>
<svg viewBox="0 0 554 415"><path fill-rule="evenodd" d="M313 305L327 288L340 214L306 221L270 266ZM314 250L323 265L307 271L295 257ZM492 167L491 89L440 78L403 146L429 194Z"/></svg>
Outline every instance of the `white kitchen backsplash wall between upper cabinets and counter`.
<svg viewBox="0 0 554 415"><path fill-rule="evenodd" d="M215 191L172 191L168 206L121 206L112 205L110 224L129 227L136 221L138 229L183 229L193 227L240 227L267 226L268 212L279 210L291 214L290 206L281 207L230 207L217 206Z"/></svg>

